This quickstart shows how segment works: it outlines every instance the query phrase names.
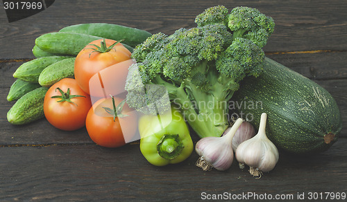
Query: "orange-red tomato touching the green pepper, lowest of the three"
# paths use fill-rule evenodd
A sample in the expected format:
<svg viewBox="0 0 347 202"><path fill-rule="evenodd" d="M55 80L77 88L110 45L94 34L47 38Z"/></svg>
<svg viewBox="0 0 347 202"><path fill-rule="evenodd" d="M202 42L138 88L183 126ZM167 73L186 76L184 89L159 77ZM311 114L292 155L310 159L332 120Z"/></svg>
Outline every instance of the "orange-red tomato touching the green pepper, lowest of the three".
<svg viewBox="0 0 347 202"><path fill-rule="evenodd" d="M114 106L117 107L121 103L121 99L113 99L115 105L112 98L103 98L95 102L85 120L90 138L103 147L121 147L128 142L126 140L133 138L137 131L137 116L131 114L127 104L124 104L121 112L123 116L115 117L109 113L114 110Z"/></svg>

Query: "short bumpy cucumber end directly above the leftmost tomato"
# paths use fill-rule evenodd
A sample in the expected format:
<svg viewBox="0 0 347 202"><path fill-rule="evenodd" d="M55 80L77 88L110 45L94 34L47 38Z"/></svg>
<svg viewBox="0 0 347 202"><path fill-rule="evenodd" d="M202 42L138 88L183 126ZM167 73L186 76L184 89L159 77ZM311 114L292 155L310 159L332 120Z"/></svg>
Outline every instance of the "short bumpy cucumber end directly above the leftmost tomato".
<svg viewBox="0 0 347 202"><path fill-rule="evenodd" d="M49 87L63 78L74 78L75 59L71 57L47 66L40 74L39 84Z"/></svg>

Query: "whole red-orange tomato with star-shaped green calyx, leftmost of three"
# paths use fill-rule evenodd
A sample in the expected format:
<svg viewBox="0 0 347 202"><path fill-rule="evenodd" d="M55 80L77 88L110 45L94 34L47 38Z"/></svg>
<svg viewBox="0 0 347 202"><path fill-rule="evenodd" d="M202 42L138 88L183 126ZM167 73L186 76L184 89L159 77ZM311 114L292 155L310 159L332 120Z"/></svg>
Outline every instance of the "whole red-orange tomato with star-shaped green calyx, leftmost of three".
<svg viewBox="0 0 347 202"><path fill-rule="evenodd" d="M90 95L71 78L53 84L44 97L44 116L51 125L65 131L84 127L91 107Z"/></svg>

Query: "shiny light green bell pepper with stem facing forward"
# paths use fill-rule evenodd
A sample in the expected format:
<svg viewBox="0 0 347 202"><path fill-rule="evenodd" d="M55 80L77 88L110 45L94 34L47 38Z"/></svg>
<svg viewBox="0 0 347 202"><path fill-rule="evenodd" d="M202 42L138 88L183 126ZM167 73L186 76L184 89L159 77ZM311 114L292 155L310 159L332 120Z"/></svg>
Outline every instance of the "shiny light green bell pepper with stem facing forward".
<svg viewBox="0 0 347 202"><path fill-rule="evenodd" d="M180 163L193 152L193 141L180 111L139 118L140 150L149 163L156 166Z"/></svg>

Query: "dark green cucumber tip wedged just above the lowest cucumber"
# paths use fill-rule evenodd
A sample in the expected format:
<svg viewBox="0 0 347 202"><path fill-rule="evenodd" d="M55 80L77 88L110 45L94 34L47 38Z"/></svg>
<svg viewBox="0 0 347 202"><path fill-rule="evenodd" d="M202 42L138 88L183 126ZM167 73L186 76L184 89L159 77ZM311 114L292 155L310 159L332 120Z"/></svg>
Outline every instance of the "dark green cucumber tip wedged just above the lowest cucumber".
<svg viewBox="0 0 347 202"><path fill-rule="evenodd" d="M12 86L10 87L10 91L7 95L7 100L9 102L18 100L19 98L22 98L22 96L26 93L40 87L40 84L37 83L26 82L24 80L15 80L15 82L13 82Z"/></svg>

